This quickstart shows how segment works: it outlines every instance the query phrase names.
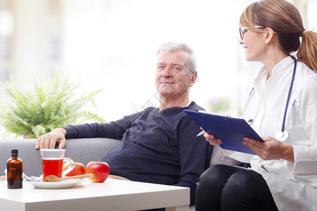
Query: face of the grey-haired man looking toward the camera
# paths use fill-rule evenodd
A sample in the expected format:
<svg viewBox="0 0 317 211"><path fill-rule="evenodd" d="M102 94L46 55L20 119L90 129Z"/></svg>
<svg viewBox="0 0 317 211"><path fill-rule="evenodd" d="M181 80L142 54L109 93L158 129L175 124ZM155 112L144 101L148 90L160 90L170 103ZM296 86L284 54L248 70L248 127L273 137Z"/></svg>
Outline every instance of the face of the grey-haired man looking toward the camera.
<svg viewBox="0 0 317 211"><path fill-rule="evenodd" d="M161 51L157 58L156 89L164 98L187 96L189 87L196 79L189 75L187 67L189 56L184 51Z"/></svg>

